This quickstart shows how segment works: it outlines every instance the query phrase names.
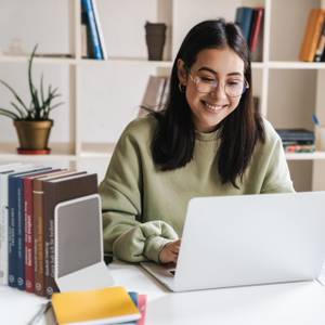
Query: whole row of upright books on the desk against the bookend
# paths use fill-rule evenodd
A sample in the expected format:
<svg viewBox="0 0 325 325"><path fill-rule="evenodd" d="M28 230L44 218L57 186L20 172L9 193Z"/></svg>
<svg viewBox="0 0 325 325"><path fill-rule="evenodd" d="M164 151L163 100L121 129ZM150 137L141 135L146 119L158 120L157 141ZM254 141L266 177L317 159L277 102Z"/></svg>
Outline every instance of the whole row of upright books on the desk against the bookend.
<svg viewBox="0 0 325 325"><path fill-rule="evenodd" d="M12 164L0 166L0 284L50 297L54 281L54 210L98 193L86 171Z"/></svg>

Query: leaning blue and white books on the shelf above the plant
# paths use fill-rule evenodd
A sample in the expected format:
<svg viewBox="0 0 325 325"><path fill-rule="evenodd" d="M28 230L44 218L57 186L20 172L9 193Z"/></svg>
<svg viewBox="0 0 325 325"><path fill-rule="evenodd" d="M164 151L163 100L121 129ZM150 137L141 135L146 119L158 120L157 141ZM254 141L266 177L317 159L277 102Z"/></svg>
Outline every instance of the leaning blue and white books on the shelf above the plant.
<svg viewBox="0 0 325 325"><path fill-rule="evenodd" d="M96 0L81 0L81 56L107 60Z"/></svg>

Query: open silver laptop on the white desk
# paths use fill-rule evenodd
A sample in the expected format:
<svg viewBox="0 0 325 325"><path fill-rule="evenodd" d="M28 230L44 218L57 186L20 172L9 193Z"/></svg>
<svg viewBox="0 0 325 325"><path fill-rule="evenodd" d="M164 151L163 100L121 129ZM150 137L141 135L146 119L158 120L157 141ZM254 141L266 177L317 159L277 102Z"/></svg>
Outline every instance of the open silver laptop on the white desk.
<svg viewBox="0 0 325 325"><path fill-rule="evenodd" d="M316 280L325 192L193 198L177 268L141 265L172 291Z"/></svg>

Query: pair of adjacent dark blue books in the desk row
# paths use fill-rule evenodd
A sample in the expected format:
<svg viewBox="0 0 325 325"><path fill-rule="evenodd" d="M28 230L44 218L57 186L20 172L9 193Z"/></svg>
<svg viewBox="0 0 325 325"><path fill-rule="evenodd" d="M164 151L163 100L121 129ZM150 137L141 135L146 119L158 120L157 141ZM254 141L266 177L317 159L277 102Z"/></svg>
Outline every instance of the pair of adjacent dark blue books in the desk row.
<svg viewBox="0 0 325 325"><path fill-rule="evenodd" d="M50 167L10 174L8 178L8 273L9 286L25 290L25 208L24 176L51 170Z"/></svg>

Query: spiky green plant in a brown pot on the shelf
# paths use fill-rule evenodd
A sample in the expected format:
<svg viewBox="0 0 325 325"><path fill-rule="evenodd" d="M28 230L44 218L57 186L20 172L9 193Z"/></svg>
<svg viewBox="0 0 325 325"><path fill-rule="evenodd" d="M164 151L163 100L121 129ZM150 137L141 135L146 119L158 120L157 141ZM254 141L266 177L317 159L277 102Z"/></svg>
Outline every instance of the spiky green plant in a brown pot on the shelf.
<svg viewBox="0 0 325 325"><path fill-rule="evenodd" d="M13 119L20 141L20 147L17 148L20 154L50 153L48 141L53 126L50 114L55 107L63 104L62 102L53 104L53 100L61 95L57 93L57 88L52 89L50 84L47 92L44 92L43 75L40 79L39 89L35 87L31 68L36 50L37 46L35 46L28 62L29 105L24 103L10 84L0 79L0 83L9 89L15 98L15 102L11 102L12 109L0 107L0 115Z"/></svg>

